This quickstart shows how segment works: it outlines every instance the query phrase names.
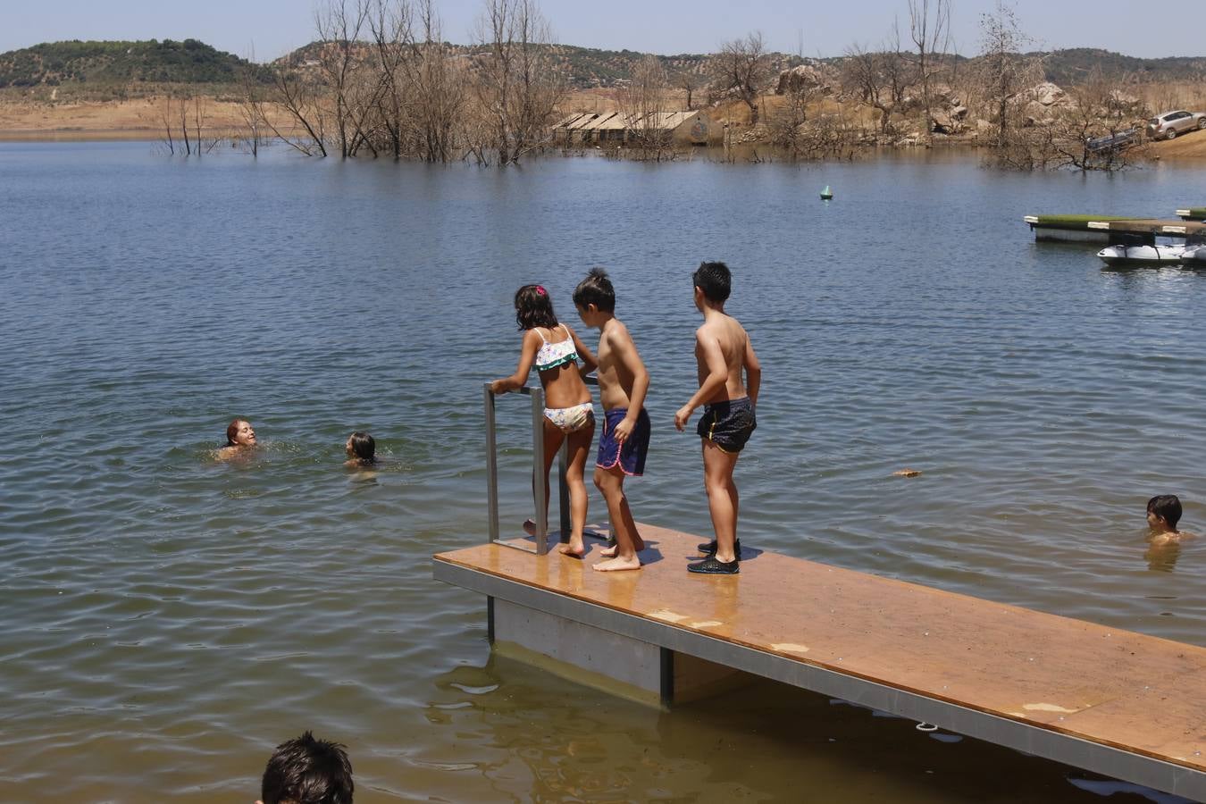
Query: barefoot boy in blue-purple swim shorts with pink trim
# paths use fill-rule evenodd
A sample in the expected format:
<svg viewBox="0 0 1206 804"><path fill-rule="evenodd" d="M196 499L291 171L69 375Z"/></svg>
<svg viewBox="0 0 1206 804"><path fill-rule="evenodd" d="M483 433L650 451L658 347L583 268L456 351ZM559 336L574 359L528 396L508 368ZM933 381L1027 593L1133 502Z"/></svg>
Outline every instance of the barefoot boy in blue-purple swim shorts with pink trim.
<svg viewBox="0 0 1206 804"><path fill-rule="evenodd" d="M598 364L599 397L603 400L603 434L599 436L598 459L595 463L595 485L607 500L615 546L602 551L607 561L595 569L610 573L640 569L637 553L645 542L637 532L637 523L624 493L624 479L645 471L649 452L649 413L645 393L649 371L632 342L628 328L615 317L615 289L607 271L591 269L590 275L574 288L574 306L587 327L599 329L598 356L587 357L587 364ZM593 358L593 359L592 359Z"/></svg>

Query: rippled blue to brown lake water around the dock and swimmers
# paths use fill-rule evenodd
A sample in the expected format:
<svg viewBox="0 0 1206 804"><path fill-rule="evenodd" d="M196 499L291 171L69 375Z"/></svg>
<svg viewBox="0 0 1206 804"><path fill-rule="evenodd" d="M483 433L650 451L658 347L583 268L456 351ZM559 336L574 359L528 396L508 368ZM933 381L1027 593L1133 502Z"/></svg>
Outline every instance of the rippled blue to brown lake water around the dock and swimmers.
<svg viewBox="0 0 1206 804"><path fill-rule="evenodd" d="M515 288L543 282L590 342L592 265L652 376L633 511L709 533L673 415L691 271L724 259L765 370L748 545L1206 645L1206 539L1153 553L1143 518L1176 493L1206 530L1206 274L1107 270L1020 221L1167 216L1202 187L953 154L479 170L0 143L0 799L250 802L314 729L347 744L358 802L1102 800L1119 787L775 685L662 714L491 657L484 600L429 557L486 539L481 383L514 370ZM517 523L527 404L498 407ZM236 415L264 446L217 463ZM375 477L341 468L353 429Z"/></svg>

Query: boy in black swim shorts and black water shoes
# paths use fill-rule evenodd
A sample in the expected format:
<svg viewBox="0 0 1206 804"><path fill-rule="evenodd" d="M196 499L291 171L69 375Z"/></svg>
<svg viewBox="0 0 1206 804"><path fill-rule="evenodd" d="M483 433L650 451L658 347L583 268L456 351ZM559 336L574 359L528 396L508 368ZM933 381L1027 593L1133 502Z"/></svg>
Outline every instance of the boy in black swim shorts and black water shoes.
<svg viewBox="0 0 1206 804"><path fill-rule="evenodd" d="M696 432L703 445L703 486L716 538L699 550L708 557L687 564L692 573L734 575L740 571L740 541L737 540L737 486L733 469L737 457L757 427L762 366L749 335L736 318L725 312L732 276L724 263L702 263L691 277L695 306L703 313L703 327L695 330L695 360L699 389L674 413L674 427L686 427L691 413L704 406ZM744 381L742 370L745 370Z"/></svg>

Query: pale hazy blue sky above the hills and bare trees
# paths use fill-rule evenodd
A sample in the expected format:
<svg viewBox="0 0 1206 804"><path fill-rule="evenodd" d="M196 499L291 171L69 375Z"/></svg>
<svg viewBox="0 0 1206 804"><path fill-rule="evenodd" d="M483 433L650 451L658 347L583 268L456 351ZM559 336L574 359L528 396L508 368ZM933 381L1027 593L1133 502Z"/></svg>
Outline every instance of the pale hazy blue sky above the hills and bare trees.
<svg viewBox="0 0 1206 804"><path fill-rule="evenodd" d="M470 40L481 0L438 0L444 37ZM995 0L954 0L959 52L978 47L977 24ZM1193 0L1018 0L1023 28L1044 47L1103 47L1129 55L1204 55ZM0 0L0 52L68 39L199 39L259 60L314 39L311 0ZM656 53L710 52L761 30L772 49L839 55L874 45L906 0L543 0L561 42ZM1198 11L1190 11L1198 8Z"/></svg>

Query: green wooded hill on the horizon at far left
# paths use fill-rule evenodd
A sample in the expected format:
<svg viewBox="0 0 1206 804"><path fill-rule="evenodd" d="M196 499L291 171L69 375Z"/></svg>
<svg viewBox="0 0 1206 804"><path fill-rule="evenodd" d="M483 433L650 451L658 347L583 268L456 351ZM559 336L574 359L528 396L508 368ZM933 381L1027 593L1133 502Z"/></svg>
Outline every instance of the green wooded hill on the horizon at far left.
<svg viewBox="0 0 1206 804"><path fill-rule="evenodd" d="M205 42L45 42L0 53L0 88L70 83L229 83L244 59Z"/></svg>

